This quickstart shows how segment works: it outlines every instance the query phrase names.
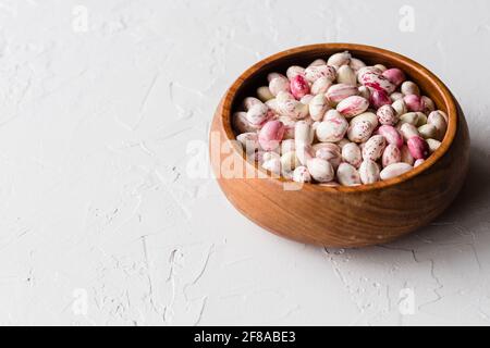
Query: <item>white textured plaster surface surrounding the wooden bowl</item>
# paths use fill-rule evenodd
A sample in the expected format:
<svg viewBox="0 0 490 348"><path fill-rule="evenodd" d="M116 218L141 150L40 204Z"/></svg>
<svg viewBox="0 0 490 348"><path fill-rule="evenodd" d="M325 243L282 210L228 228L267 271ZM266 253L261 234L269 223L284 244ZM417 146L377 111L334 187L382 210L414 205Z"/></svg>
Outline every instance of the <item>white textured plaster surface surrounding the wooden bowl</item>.
<svg viewBox="0 0 490 348"><path fill-rule="evenodd" d="M280 239L186 175L240 73L326 41L419 61L467 115L464 192L390 246ZM490 324L489 42L487 0L0 1L0 324Z"/></svg>

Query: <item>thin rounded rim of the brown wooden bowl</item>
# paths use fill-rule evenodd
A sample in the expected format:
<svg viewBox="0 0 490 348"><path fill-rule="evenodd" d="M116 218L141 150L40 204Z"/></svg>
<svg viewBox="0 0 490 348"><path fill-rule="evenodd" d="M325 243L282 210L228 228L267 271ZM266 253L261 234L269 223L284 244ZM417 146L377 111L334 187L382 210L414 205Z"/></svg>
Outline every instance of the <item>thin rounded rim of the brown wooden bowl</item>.
<svg viewBox="0 0 490 348"><path fill-rule="evenodd" d="M262 69L265 65L273 63L278 59L283 59L284 57L292 55L292 54L298 54L298 53L305 53L311 50L339 50L339 51L345 51L345 50L353 50L353 51L366 51L368 53L375 53L383 57L388 57L391 60L394 61L401 61L405 65L411 65L411 67L414 71L417 71L418 74L422 76L422 78L428 79L431 82L431 84L436 87L437 92L442 96L442 100L444 103L444 107L446 109L446 114L449 119L448 124L448 130L445 133L445 136L443 140L441 141L441 146L439 149L433 152L429 159L427 159L421 165L414 167L412 171L402 174L400 176L393 177L388 181L380 181L373 184L368 185L358 185L358 186L327 186L321 184L313 184L313 183L305 183L302 186L302 189L307 190L314 190L314 191L324 191L324 192L364 192L369 190L379 190L383 189L390 186L395 186L399 184L402 184L404 182L407 182L421 173L429 170L432 165L438 162L450 149L451 145L454 141L454 138L456 136L456 128L458 123L458 111L456 107L456 102L454 100L454 97L452 96L451 91L448 89L448 87L437 77L432 72L430 72L428 69L422 66L421 64L417 63L416 61L402 55L400 53L395 53L393 51L378 48L375 46L368 46L368 45L359 45L359 44L346 44L346 42L332 42L332 44L315 44L315 45L306 45L306 46L299 46L292 49L287 49L281 52L278 52L275 54L272 54L268 58L262 59L261 61L255 63L250 67L248 67L244 73L242 73L235 82L232 84L232 86L226 90L221 107L219 108L219 117L220 117L220 125L222 129L224 130L224 134L226 135L226 140L235 140L236 135L232 128L231 125L231 117L233 114L233 101L235 99L236 92L238 91L240 87L242 86L243 82L252 77L254 74L256 74L260 69ZM232 146L232 151L235 151L236 154L241 156L242 159L249 165L254 165L255 169L261 174L258 176L260 179L270 179L278 185L283 185L285 183L292 183L290 179L286 179L284 177L277 177L273 176L271 172L262 169L257 163L250 163L246 160L244 151L238 151L234 146Z"/></svg>

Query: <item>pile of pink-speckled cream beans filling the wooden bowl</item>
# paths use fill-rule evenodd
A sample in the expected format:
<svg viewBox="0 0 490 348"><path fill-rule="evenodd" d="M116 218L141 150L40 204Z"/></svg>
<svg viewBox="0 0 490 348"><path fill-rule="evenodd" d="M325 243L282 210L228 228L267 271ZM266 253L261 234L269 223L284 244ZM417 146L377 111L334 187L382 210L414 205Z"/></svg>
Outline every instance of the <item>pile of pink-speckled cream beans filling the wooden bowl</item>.
<svg viewBox="0 0 490 348"><path fill-rule="evenodd" d="M448 115L400 69L350 52L271 73L232 122L250 161L298 183L372 184L402 175L441 145Z"/></svg>

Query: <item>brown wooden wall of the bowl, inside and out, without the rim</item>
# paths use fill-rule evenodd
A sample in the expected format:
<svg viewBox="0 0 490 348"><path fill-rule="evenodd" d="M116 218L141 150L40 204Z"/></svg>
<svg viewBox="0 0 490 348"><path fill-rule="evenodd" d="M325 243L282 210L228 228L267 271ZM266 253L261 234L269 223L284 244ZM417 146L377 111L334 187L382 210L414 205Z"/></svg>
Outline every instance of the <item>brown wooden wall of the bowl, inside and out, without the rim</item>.
<svg viewBox="0 0 490 348"><path fill-rule="evenodd" d="M323 53L326 57L331 52ZM364 52L353 52L368 63L372 57ZM318 52L303 55L303 60L287 58L274 71L320 58ZM376 58L376 62L393 66L392 62ZM403 66L401 66L404 69ZM266 66L264 74L270 72ZM407 67L404 69L405 71ZM412 76L422 86L417 76ZM264 82L262 82L264 84ZM235 100L254 95L259 80L249 80L236 94ZM254 88L254 89L253 89ZM440 96L424 90L438 105ZM223 99L224 100L224 99ZM222 104L218 107L211 132L220 134L221 141L228 140L223 124ZM305 185L302 190L284 190L280 181L273 178L223 178L220 177L222 160L230 154L211 153L213 171L219 185L232 204L245 216L264 228L301 243L328 247L364 247L392 241L431 222L454 200L464 183L469 162L469 135L464 114L458 108L455 138L433 165L396 185L376 190L340 192L321 191ZM238 152L233 152L237 163L244 162ZM245 162L247 171L257 169Z"/></svg>

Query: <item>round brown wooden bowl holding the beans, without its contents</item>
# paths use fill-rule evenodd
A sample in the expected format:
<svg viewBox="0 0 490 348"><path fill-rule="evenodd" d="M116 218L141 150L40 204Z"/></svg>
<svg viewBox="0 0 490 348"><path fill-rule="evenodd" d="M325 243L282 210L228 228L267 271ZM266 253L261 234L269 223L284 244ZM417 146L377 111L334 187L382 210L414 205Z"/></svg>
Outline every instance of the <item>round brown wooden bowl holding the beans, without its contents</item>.
<svg viewBox="0 0 490 348"><path fill-rule="evenodd" d="M449 115L442 146L422 165L402 176L357 187L305 184L285 190L275 178L245 160L231 126L232 112L270 72L290 65L308 65L315 59L348 50L368 65L400 67ZM221 151L220 151L221 147ZM231 151L226 152L226 148ZM243 73L221 100L212 122L210 158L215 175L231 203L264 228L301 243L328 247L364 247L384 244L428 224L454 200L465 179L469 135L465 116L450 90L431 72L397 53L352 44L321 44L294 48L255 64ZM241 177L226 177L221 167L243 165ZM253 178L250 178L250 173ZM260 177L261 176L261 177Z"/></svg>

